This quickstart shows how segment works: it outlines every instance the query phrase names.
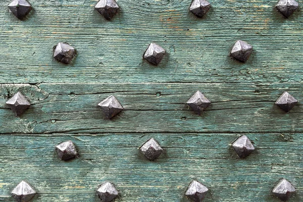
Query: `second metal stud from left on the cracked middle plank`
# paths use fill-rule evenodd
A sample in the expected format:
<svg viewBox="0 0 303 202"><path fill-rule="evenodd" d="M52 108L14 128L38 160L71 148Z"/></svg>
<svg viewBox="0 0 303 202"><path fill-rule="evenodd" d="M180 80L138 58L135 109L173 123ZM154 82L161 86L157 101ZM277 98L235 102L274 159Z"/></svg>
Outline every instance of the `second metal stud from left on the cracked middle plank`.
<svg viewBox="0 0 303 202"><path fill-rule="evenodd" d="M119 103L118 99L116 99L114 95L111 95L105 100L103 100L101 103L98 104L98 106L103 110L105 116L108 119L113 118L123 110L122 105Z"/></svg>

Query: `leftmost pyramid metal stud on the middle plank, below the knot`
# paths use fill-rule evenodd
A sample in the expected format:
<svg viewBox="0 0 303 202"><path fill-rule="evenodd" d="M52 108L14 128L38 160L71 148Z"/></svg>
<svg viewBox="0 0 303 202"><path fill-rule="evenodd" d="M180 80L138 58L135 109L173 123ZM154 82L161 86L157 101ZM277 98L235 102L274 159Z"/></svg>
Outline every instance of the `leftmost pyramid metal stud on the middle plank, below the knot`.
<svg viewBox="0 0 303 202"><path fill-rule="evenodd" d="M21 116L30 106L30 103L21 92L17 92L6 104L13 110L16 116Z"/></svg>

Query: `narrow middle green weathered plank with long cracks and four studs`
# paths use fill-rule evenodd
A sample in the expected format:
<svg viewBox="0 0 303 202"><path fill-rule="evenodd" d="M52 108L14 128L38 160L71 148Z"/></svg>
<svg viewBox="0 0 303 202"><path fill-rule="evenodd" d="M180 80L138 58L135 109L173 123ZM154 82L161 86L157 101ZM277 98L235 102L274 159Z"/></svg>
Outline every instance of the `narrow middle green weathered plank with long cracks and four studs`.
<svg viewBox="0 0 303 202"><path fill-rule="evenodd" d="M300 104L288 114L274 104L284 90L301 100L302 88L301 83L4 84L0 133L302 132ZM185 104L198 89L212 102L202 116ZM33 104L21 118L5 104L18 90ZM97 104L111 94L125 110L107 120Z"/></svg>

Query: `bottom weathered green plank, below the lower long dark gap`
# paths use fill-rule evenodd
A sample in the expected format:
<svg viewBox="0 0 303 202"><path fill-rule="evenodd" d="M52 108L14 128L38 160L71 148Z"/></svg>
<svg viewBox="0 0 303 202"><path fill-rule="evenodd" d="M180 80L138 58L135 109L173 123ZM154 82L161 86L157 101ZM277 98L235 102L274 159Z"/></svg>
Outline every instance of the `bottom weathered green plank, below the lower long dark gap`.
<svg viewBox="0 0 303 202"><path fill-rule="evenodd" d="M188 201L188 183L198 179L210 188L205 201L279 201L271 189L287 178L302 201L302 135L246 134L256 150L239 159L231 143L241 134L3 134L0 139L0 200L27 179L37 189L34 201L97 201L104 180L119 189L119 201ZM165 153L145 160L138 147L155 137ZM60 161L55 144L71 139L80 157Z"/></svg>

